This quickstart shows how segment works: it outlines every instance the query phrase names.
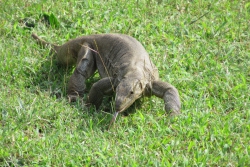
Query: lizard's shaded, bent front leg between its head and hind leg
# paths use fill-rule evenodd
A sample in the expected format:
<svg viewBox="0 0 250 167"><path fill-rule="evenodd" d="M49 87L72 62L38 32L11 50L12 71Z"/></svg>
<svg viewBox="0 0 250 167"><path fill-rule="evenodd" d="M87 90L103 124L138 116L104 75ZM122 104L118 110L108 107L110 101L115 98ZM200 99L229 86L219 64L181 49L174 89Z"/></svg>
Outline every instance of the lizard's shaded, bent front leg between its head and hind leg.
<svg viewBox="0 0 250 167"><path fill-rule="evenodd" d="M103 96L111 95L114 91L114 79L110 77L102 78L91 87L87 104L93 104L98 109L102 104Z"/></svg>

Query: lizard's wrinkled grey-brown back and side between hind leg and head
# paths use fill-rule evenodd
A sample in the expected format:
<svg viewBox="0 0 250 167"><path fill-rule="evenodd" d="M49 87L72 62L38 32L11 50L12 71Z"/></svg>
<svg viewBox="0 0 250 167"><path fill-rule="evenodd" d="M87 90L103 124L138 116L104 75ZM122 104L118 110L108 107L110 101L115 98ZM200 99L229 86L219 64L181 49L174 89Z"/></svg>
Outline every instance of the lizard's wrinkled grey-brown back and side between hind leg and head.
<svg viewBox="0 0 250 167"><path fill-rule="evenodd" d="M99 53L95 54L95 58L101 77L108 76L106 69L110 76L139 69L147 79L158 79L157 68L145 48L135 38L124 34L100 34L82 38L87 39Z"/></svg>

